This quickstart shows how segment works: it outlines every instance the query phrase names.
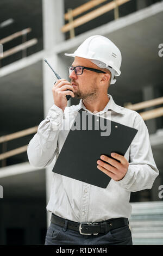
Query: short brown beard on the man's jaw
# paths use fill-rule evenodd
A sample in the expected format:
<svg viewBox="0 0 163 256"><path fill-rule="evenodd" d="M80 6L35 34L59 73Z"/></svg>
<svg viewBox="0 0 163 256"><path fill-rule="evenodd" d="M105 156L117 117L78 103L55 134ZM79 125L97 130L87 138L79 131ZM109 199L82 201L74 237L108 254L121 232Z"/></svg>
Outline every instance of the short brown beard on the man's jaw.
<svg viewBox="0 0 163 256"><path fill-rule="evenodd" d="M98 86L96 82L96 78L92 81L91 84L86 88L85 92L80 90L79 87L77 92L74 92L74 97L77 99L93 99L96 98L98 95Z"/></svg>

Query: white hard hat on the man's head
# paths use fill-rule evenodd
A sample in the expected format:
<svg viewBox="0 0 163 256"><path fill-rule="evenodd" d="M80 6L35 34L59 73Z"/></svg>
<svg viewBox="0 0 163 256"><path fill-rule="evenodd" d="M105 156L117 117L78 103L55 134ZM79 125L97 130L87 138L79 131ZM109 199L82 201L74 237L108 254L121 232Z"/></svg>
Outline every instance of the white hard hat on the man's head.
<svg viewBox="0 0 163 256"><path fill-rule="evenodd" d="M102 35L93 35L87 38L74 53L65 53L66 56L89 59L99 68L109 69L111 72L111 84L114 84L115 76L120 76L122 56L117 46Z"/></svg>

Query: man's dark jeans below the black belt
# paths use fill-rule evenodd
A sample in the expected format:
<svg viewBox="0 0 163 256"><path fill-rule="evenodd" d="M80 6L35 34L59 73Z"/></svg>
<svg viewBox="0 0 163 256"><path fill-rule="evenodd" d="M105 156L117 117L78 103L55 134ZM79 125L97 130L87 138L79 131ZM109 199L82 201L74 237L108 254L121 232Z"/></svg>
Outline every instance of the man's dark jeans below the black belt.
<svg viewBox="0 0 163 256"><path fill-rule="evenodd" d="M133 245L133 242L128 225L112 229L105 234L82 235L51 222L45 245Z"/></svg>

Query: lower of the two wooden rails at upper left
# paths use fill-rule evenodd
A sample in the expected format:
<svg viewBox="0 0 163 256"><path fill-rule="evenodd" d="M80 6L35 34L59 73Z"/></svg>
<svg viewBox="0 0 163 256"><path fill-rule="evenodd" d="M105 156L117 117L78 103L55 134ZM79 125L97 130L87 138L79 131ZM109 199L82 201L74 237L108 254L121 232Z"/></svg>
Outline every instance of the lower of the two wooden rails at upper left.
<svg viewBox="0 0 163 256"><path fill-rule="evenodd" d="M16 52L22 51L22 50L24 50L24 49L26 49L26 48L28 48L28 47L30 47L32 45L35 45L35 44L37 44L37 39L36 38L31 39L31 40L29 40L27 42L24 42L21 45L17 45L14 48L11 48L10 50L3 52L3 56L0 56L0 59L8 57L8 56L10 56L10 55L12 55L12 54L14 54Z"/></svg>

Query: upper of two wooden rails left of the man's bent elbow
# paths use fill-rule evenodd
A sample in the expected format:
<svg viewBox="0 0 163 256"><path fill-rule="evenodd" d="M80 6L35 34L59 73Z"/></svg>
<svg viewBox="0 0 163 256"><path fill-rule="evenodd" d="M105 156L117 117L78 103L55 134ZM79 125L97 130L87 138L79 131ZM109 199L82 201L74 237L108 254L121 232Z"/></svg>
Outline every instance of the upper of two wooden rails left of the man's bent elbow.
<svg viewBox="0 0 163 256"><path fill-rule="evenodd" d="M24 136L27 136L29 134L35 133L35 132L37 132L37 129L38 129L38 126L34 126L32 128L26 129L26 130L22 130L22 131L19 131L19 132L11 133L9 135L1 136L0 137L0 143L11 141L12 139L24 137Z"/></svg>

